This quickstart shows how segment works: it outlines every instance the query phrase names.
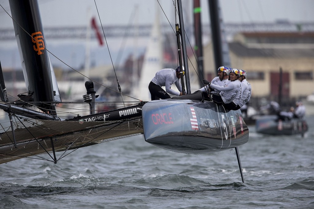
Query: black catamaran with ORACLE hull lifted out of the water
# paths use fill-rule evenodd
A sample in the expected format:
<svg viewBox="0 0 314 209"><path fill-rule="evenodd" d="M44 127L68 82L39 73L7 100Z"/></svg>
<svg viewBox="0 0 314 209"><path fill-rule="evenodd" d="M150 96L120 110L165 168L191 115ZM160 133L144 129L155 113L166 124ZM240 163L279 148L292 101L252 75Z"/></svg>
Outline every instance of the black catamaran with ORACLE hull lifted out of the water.
<svg viewBox="0 0 314 209"><path fill-rule="evenodd" d="M86 81L84 101L90 106L90 114L67 119L59 117L56 108L62 99L46 48L38 2L10 0L9 3L27 94L9 100L1 76L0 108L8 113L10 122L1 124L5 131L0 134L0 163L25 157L44 159L42 153L49 154L45 160L57 163L80 147L144 134L146 142L180 153L213 153L236 148L244 182L238 147L248 141L249 130L241 111L225 110L204 99L202 92L190 94L181 0L177 0L180 23L176 24L176 36L178 62L181 69L184 64L186 72L186 81L182 76L181 83L185 83L183 89L187 95L140 101L96 113L94 83ZM57 158L57 152L61 151Z"/></svg>

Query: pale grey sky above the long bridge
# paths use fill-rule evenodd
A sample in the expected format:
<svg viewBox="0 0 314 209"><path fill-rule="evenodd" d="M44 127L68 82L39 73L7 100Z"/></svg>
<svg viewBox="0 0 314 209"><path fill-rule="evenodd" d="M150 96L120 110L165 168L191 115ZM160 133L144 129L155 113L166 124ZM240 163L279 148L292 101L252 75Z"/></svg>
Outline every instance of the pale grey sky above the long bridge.
<svg viewBox="0 0 314 209"><path fill-rule="evenodd" d="M159 0L168 18L173 19L171 0ZM96 0L103 25L127 24L135 5L138 5L139 24L154 20L156 0ZM8 0L0 4L10 13ZM93 0L39 0L44 26L86 25L87 11L98 16ZM192 15L192 0L182 0L183 8ZM201 0L202 21L208 22L208 0ZM226 23L274 22L286 19L291 22L314 21L314 0L220 0L223 20ZM160 7L158 7L160 9ZM185 15L188 18L188 15ZM13 28L12 20L0 8L0 28ZM163 15L162 21L166 22Z"/></svg>

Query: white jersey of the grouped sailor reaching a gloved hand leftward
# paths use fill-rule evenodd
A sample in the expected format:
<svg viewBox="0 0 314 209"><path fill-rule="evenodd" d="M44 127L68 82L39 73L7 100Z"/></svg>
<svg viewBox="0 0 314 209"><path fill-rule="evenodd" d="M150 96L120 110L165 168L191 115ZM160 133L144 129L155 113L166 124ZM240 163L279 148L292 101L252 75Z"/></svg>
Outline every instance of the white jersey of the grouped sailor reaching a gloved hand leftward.
<svg viewBox="0 0 314 209"><path fill-rule="evenodd" d="M241 82L236 79L235 81L230 81L223 86L219 86L216 84L210 84L210 87L220 91L221 99L225 104L232 102L235 98L239 97L241 94ZM241 97L241 96L240 96Z"/></svg>

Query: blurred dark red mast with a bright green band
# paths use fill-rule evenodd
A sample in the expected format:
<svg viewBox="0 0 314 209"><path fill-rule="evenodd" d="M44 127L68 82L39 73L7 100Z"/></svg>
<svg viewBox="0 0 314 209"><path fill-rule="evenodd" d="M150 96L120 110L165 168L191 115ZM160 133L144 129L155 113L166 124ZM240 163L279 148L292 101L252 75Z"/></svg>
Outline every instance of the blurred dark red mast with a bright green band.
<svg viewBox="0 0 314 209"><path fill-rule="evenodd" d="M194 36L195 36L195 46L194 50L196 52L197 59L197 69L200 75L204 76L203 70L203 44L202 44L202 24L201 24L201 6L199 0L194 0ZM203 86L201 80L199 80L200 86Z"/></svg>

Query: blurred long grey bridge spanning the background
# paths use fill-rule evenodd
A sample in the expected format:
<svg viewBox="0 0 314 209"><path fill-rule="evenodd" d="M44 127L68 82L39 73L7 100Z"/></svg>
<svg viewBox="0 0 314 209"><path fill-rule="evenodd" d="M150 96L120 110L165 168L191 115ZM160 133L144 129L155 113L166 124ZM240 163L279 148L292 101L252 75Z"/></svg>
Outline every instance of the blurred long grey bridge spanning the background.
<svg viewBox="0 0 314 209"><path fill-rule="evenodd" d="M152 25L139 25L138 27L132 26L118 26L109 25L104 26L104 32L107 38L121 38L121 37L148 37L151 33ZM175 33L174 26L164 24L161 26L162 33L169 34ZM193 28L192 25L187 25L187 29ZM290 22L277 22L277 23L245 23L245 24L224 24L224 29L227 36L233 36L239 32L313 32L314 22L304 23L290 23ZM203 35L210 35L210 25L204 24L202 27ZM78 27L46 27L44 28L45 37L51 39L85 39L87 34L86 26ZM102 33L102 32L101 32ZM187 31L187 34L192 31ZM95 33L91 35L92 39L96 39ZM0 41L15 40L14 29L0 29Z"/></svg>

